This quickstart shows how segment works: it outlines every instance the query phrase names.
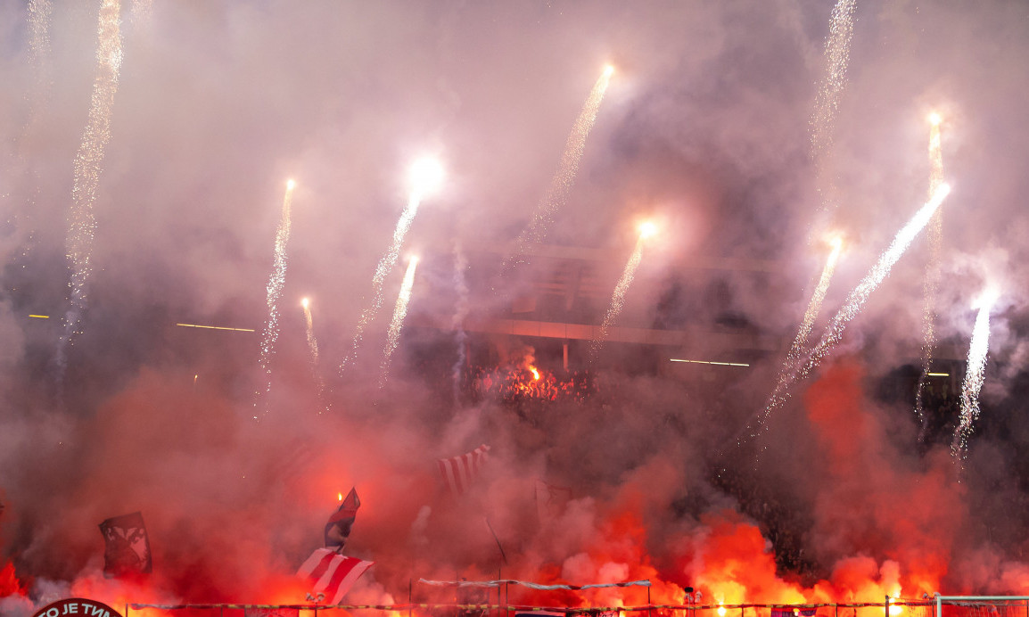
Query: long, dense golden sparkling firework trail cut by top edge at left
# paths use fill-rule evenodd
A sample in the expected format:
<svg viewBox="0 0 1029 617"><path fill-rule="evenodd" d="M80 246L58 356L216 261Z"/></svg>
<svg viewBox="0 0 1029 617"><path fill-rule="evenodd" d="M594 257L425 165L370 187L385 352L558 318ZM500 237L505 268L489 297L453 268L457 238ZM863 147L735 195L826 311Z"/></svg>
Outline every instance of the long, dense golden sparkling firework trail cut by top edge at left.
<svg viewBox="0 0 1029 617"><path fill-rule="evenodd" d="M104 150L111 138L111 109L118 89L121 68L121 33L118 26L119 0L104 0L97 29L97 73L93 81L90 117L82 142L75 154L72 207L69 214L66 256L71 265L71 306L65 313L64 334L58 344L59 383L64 380L67 346L81 334L82 312L87 301L86 284L93 273L93 241L97 219L93 209L104 164Z"/></svg>

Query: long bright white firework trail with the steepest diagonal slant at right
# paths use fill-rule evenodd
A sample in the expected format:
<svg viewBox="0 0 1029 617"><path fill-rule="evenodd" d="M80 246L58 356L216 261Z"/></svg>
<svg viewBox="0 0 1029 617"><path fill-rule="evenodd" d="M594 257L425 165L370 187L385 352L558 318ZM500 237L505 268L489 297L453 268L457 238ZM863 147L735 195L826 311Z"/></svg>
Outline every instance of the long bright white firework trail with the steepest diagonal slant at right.
<svg viewBox="0 0 1029 617"><path fill-rule="evenodd" d="M828 325L825 327L825 332L822 334L821 339L818 343L811 350L808 355L808 359L803 364L799 365L799 368L794 371L784 371L783 374L779 376L778 383L776 384L775 390L769 397L768 403L765 408L756 415L756 426L754 425L754 420L751 419L750 422L744 427L743 432L737 437L737 445L742 445L746 439L754 439L757 435L766 430L768 427L768 420L772 416L772 413L783 406L783 404L789 399L789 388L807 377L811 374L811 371L821 364L821 361L825 359L826 356L836 348L840 339L843 338L844 330L847 328L847 324L857 316L857 313L867 301L868 296L875 291L882 282L889 276L890 269L893 265L900 259L911 243L918 237L918 234L925 228L929 219L932 217L939 205L943 204L944 198L950 193L950 186L947 184L942 184L933 193L932 198L929 199L917 213L912 217L908 223L897 231L897 234L893 238L893 242L890 246L879 256L879 260L876 261L868 274L864 276L863 279L857 284L857 287L848 294L847 299L844 301L843 306L839 312L832 317Z"/></svg>

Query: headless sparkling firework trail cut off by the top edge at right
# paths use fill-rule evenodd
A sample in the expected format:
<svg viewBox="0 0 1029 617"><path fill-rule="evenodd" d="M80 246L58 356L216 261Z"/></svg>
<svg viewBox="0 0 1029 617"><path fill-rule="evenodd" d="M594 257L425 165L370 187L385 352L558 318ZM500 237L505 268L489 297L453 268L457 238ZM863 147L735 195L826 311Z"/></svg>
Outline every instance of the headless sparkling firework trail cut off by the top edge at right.
<svg viewBox="0 0 1029 617"><path fill-rule="evenodd" d="M825 76L815 95L815 112L811 118L811 154L815 161L816 189L821 195L823 212L831 210L835 183L826 178L827 157L831 150L840 98L847 85L847 65L850 62L850 40L854 35L854 9L857 0L838 0L829 21L829 36L825 39Z"/></svg>

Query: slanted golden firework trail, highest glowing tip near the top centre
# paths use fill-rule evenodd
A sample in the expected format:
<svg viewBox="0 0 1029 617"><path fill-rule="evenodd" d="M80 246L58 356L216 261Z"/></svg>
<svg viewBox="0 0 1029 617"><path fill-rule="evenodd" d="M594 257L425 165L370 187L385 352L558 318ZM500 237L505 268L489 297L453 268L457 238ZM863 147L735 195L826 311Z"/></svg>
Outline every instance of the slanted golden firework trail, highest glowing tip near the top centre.
<svg viewBox="0 0 1029 617"><path fill-rule="evenodd" d="M551 186L546 189L546 194L536 207L536 213L532 217L529 226L526 227L516 241L516 253L504 260L503 269L506 269L512 262L524 262L529 245L538 244L546 235L546 228L554 221L554 214L568 202L568 194L575 184L575 176L578 173L579 159L582 158L582 151L586 149L586 139L593 129L593 123L597 119L597 112L600 111L600 104L604 100L604 93L614 73L614 67L604 68L604 72L597 79L587 97L582 111L575 118L575 124L565 143L565 150L561 154L561 162L558 171L551 180Z"/></svg>

